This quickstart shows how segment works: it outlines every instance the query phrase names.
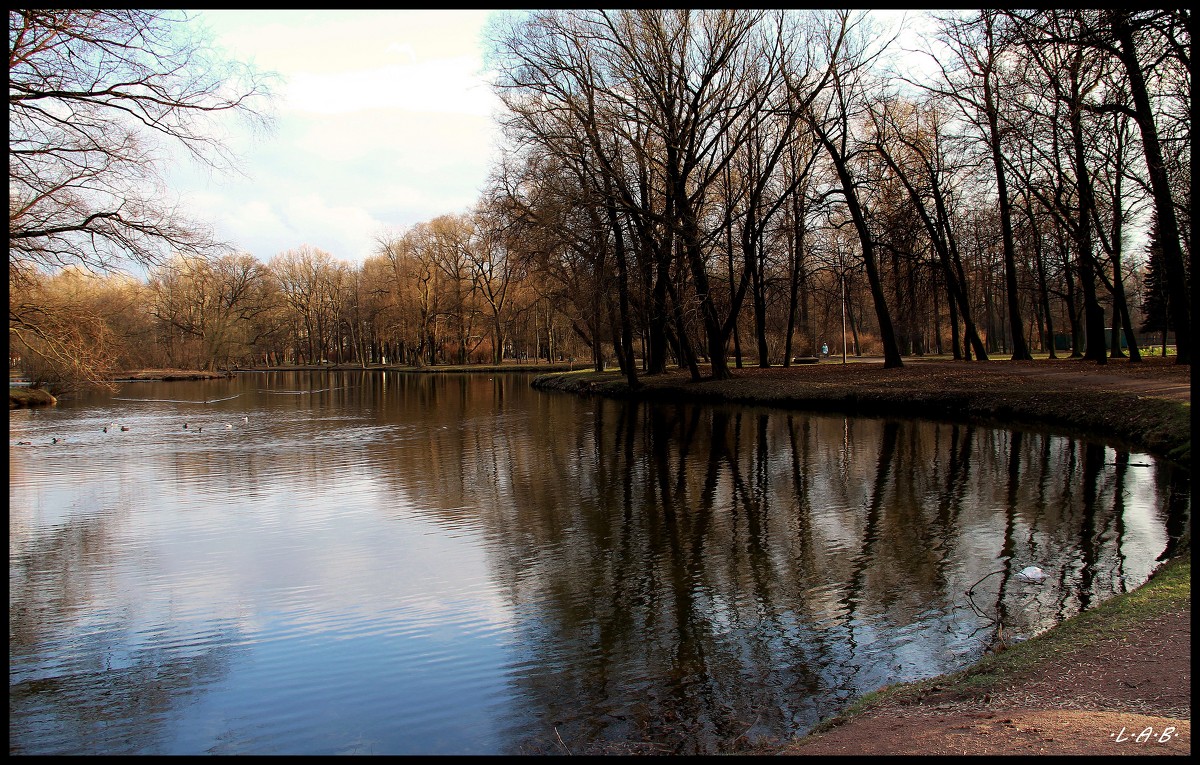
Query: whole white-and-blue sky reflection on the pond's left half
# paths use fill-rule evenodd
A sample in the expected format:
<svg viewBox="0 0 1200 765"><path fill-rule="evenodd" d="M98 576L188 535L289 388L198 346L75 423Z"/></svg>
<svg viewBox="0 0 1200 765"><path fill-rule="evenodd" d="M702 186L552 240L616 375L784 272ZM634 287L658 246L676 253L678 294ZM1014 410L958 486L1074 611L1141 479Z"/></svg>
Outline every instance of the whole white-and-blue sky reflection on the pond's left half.
<svg viewBox="0 0 1200 765"><path fill-rule="evenodd" d="M266 448L298 446L287 439ZM328 486L281 459L258 474L247 501L248 487L222 487L217 472L142 457L149 462L112 459L110 471L86 482L11 486L14 506L36 505L19 524L26 540L83 518L106 524L103 565L85 556L74 574L85 580L76 586L88 591L88 608L58 626L67 632L56 641L55 674L68 693L86 697L79 686L89 677L70 658L80 651L98 649L95 658L120 671L148 656L203 655L215 641L250 650L233 651L218 680L173 691L178 710L130 725L133 741L100 751L455 753L493 745L491 705L505 683L511 615L474 536L415 516L406 496L349 458ZM59 458L48 475L72 456ZM17 661L10 681L47 668ZM347 748L352 730L361 734ZM95 751L83 737L59 743Z"/></svg>

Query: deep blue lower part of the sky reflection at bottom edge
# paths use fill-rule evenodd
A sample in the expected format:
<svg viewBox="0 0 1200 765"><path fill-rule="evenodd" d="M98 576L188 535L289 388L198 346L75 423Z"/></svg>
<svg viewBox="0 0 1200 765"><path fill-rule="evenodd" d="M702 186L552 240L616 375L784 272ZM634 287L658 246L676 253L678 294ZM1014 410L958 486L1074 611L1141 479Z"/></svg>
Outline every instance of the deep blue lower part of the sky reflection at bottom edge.
<svg viewBox="0 0 1200 765"><path fill-rule="evenodd" d="M508 649L480 610L464 598L263 618L253 652L173 722L167 751L486 753Z"/></svg>

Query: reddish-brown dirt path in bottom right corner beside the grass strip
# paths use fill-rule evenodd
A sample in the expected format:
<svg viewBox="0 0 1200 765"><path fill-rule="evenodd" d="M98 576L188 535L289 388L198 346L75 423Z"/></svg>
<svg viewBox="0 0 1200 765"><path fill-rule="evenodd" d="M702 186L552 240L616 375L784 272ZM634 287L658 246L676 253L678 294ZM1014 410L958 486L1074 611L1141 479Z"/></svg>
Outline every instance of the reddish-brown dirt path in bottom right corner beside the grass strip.
<svg viewBox="0 0 1200 765"><path fill-rule="evenodd" d="M1062 657L982 698L886 704L780 754L1188 754L1192 613Z"/></svg>

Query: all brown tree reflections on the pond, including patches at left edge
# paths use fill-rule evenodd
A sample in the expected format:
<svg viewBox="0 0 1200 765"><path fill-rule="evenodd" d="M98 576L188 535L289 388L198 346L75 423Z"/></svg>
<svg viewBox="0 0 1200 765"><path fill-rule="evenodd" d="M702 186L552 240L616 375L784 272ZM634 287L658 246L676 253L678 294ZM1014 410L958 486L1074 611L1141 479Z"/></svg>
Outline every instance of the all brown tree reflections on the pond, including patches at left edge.
<svg viewBox="0 0 1200 765"><path fill-rule="evenodd" d="M575 753L790 735L882 683L961 665L998 624L1034 632L1136 586L1189 528L1182 471L1040 433L581 400L508 375L238 384L311 392L259 402L262 448L163 450L181 481L220 474L253 496L280 475L337 487L354 466L379 484L382 514L487 541L517 615L512 751L557 752L558 735ZM11 657L101 597L78 590L97 580L54 577L103 567L103 523L40 534L10 561ZM1018 582L1027 564L1051 580ZM995 570L979 618L962 594ZM49 705L74 740L140 719L127 724L144 741L224 671L230 644L114 662L80 643L110 680L98 664L13 675L11 707Z"/></svg>

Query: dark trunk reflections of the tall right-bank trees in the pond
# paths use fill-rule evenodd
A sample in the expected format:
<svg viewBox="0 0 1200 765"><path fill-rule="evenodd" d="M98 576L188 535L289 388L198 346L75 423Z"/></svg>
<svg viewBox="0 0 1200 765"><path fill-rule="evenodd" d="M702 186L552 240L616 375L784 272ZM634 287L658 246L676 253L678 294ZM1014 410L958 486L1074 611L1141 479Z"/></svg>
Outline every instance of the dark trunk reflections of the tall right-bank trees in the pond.
<svg viewBox="0 0 1200 765"><path fill-rule="evenodd" d="M1124 538L1129 459L1102 446L613 402L564 424L576 402L527 403L511 427L430 445L461 450L472 480L451 477L446 502L476 505L497 578L539 614L520 638L538 658L514 679L532 705L521 751L560 735L576 753L689 753L803 729L978 655L989 622L962 592L982 574L1003 567L991 608L1033 632L1140 583L1158 552ZM1018 583L1028 564L1056 582Z"/></svg>

